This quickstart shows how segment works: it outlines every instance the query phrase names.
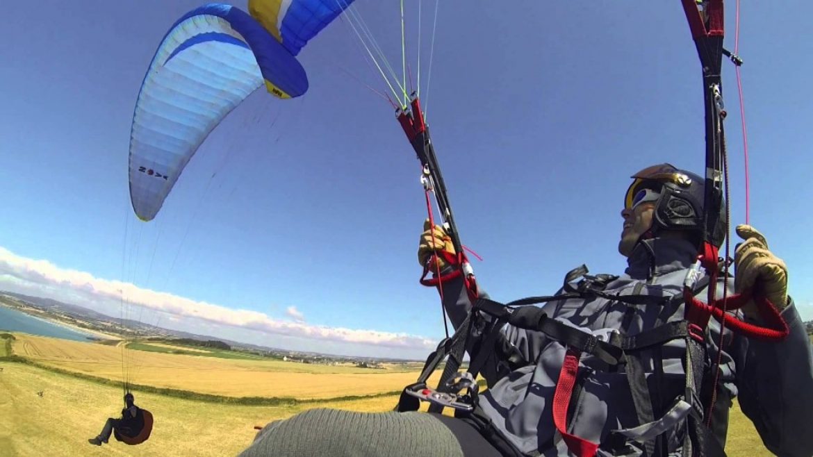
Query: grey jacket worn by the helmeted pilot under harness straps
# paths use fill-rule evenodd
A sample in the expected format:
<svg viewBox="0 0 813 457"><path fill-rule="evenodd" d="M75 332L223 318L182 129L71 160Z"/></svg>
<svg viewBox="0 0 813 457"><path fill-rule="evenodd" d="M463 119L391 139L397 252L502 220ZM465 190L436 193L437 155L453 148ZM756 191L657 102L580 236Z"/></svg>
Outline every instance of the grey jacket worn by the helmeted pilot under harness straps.
<svg viewBox="0 0 813 457"><path fill-rule="evenodd" d="M607 294L654 294L680 297L687 268L693 264L696 248L678 239L647 240L639 244L628 259L625 274L611 281ZM467 316L471 303L462 281L443 283L444 307L457 328ZM561 292L561 291L560 291ZM723 294L723 280L717 297ZM729 280L728 294L733 294ZM480 296L488 297L480 287ZM677 298L676 297L676 298ZM706 291L697 295L705 301ZM509 299L520 298L512 297ZM507 301L507 300L506 300ZM684 302L675 299L663 306L628 305L605 298L569 298L543 305L546 315L591 333L616 329L635 335L647 329L684 319ZM782 312L790 335L781 342L761 342L741 337L725 329L724 348L719 354L720 324L712 318L708 325L706 347L706 384L714 379L710 367L720 355L720 389L715 401L713 429L724 445L728 427L728 409L739 398L742 411L754 422L768 450L788 457L813 455L813 355L811 343L793 301ZM740 316L742 317L742 316ZM552 403L556 381L566 348L545 334L506 326L508 341L531 361L501 379L489 380L492 387L480 394L480 407L493 428L513 446L528 455L567 456L565 442L556 432ZM646 376L652 381L657 352L644 361ZM661 413L685 392L685 340L667 342L660 350L663 376L658 376L657 392ZM493 370L483 370L493 372ZM624 368L607 370L606 363L589 354L580 359L577 378L579 393L569 407L567 432L590 442L601 443L598 455L641 455L643 447L635 440L624 443L624 450L608 446L617 440L619 429L639 424L636 408ZM668 455L680 455L686 433L685 419L663 433ZM611 438L612 437L612 438Z"/></svg>

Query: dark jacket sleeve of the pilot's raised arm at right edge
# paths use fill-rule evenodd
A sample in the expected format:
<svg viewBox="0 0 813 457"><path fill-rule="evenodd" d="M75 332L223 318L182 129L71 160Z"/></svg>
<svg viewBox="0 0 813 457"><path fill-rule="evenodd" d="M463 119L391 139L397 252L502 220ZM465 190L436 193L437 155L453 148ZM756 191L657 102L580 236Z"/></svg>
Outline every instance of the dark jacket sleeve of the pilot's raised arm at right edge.
<svg viewBox="0 0 813 457"><path fill-rule="evenodd" d="M737 389L742 411L768 450L813 455L813 354L793 301L782 311L790 334L781 342L741 338Z"/></svg>

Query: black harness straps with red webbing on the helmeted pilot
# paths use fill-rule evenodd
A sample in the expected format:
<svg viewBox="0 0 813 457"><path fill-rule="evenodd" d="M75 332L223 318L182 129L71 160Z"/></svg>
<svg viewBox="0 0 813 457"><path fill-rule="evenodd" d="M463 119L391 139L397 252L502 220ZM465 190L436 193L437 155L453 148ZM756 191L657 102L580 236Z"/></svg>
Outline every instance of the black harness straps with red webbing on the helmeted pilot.
<svg viewBox="0 0 813 457"><path fill-rule="evenodd" d="M728 322L730 329L746 337L776 340L785 337L789 330L776 308L764 298L758 298L756 302L767 323L766 327L746 324L737 320L735 316L724 313L721 301L711 304L700 302L694 295L706 287L715 289L716 278L698 277L696 268L689 274L693 275L689 296L686 293L663 297L650 294L608 294L604 292L606 285L619 276L589 275L585 265L581 265L567 273L561 294L522 298L504 304L487 298L477 298L472 303L472 309L466 320L454 335L444 338L437 349L428 356L418 380L403 390L395 410L416 411L421 401L430 403L428 407L430 412L441 412L444 407L451 407L454 409L454 416L469 418L480 425L485 436L492 437L489 441L495 446L500 446L506 455L524 455L504 437L499 437L499 432L489 425L489 418L478 407L479 386L475 381L480 372L491 369L494 372L483 373L490 388L515 369L535 363L525 360L519 350L506 341L502 329L506 324L511 324L518 329L544 333L567 348L554 392L552 411L556 429L572 454L579 457L596 455L599 446L612 453L624 453L628 440L633 440L641 443L647 456L664 456L667 454L664 432L685 423L688 430L683 442L684 455L724 456L720 442L703 422L701 398L705 396L702 394L702 388L704 365L708 359L706 338L709 318L715 316L721 322ZM579 278L580 281L574 285ZM711 282L712 279L715 282ZM664 306L684 300L685 319L667 322L634 335L624 335L615 329L588 333L552 319L541 307L534 306L538 303L568 298L581 298L585 301L606 298L633 306ZM743 295L734 295L727 298L726 306L728 310L737 309L749 299ZM678 338L685 341L686 347L685 391L675 398L665 411L659 411L659 405L663 405L659 398L660 392L658 387L650 390L642 355L647 350L655 352L652 358L655 368L653 376L656 380L655 385L659 386L663 379L663 359L659 350L665 343ZM458 372L466 350L471 355L471 362L466 372ZM570 420L568 413L572 413L571 407L580 394L579 361L585 354L602 360L608 370L626 372L638 418L636 427L615 430L605 440L606 442L601 444L589 442L567 432ZM446 366L437 388L432 389L427 385L427 380L443 359L446 359ZM488 363L489 359L493 359L493 363ZM716 386L712 385L711 389L715 390ZM463 390L465 391L462 392Z"/></svg>

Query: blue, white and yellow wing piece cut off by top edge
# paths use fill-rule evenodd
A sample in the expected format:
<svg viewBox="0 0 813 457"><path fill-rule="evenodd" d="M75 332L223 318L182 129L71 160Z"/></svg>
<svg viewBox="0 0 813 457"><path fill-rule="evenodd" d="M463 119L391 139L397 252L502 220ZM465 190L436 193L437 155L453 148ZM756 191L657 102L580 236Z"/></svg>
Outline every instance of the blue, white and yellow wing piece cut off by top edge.
<svg viewBox="0 0 813 457"><path fill-rule="evenodd" d="M297 55L354 0L249 0L249 12Z"/></svg>

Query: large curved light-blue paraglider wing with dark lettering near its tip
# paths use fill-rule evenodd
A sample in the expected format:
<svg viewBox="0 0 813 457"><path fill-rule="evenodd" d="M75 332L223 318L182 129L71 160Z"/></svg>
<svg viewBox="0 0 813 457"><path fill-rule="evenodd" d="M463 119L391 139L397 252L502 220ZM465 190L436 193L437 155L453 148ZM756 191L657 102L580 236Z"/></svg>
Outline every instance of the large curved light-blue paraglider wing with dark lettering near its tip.
<svg viewBox="0 0 813 457"><path fill-rule="evenodd" d="M133 114L130 199L141 220L158 214L198 146L263 84L279 98L308 86L297 59L245 11L210 4L170 28Z"/></svg>

